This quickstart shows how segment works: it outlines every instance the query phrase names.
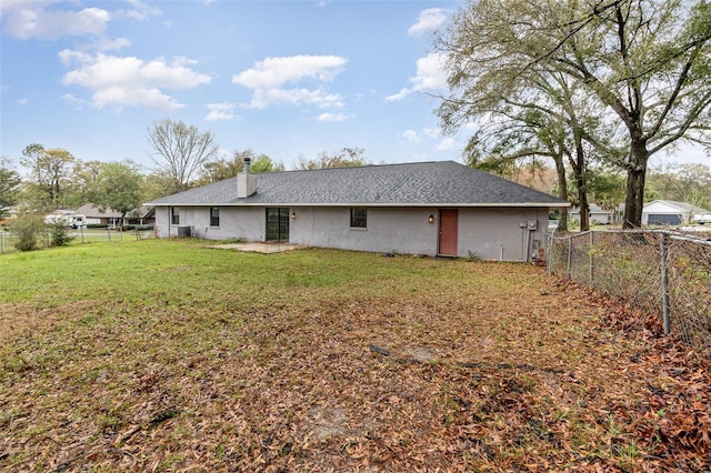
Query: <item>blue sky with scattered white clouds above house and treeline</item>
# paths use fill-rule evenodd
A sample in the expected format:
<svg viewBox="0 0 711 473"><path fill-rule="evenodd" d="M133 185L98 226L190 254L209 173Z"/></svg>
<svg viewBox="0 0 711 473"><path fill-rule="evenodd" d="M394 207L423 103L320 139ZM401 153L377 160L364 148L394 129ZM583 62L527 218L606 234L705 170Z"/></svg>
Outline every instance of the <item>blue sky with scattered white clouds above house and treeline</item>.
<svg viewBox="0 0 711 473"><path fill-rule="evenodd" d="M23 1L0 3L1 149L152 164L166 118L290 169L343 147L374 163L458 160L429 93L431 34L460 1Z"/></svg>

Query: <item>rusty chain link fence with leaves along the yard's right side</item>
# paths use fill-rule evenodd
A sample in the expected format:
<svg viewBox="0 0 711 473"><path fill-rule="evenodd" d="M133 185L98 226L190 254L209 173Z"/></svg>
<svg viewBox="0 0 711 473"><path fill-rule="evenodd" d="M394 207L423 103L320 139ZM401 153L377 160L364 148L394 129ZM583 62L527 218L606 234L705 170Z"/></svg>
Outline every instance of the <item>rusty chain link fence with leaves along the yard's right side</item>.
<svg viewBox="0 0 711 473"><path fill-rule="evenodd" d="M711 229L550 235L549 272L658 314L664 333L711 352Z"/></svg>

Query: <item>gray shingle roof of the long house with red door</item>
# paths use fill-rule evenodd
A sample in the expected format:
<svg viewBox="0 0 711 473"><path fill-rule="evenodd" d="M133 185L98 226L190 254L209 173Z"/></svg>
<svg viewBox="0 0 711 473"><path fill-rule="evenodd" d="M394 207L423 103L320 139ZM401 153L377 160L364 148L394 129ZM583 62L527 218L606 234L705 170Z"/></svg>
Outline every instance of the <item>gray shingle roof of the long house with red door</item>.
<svg viewBox="0 0 711 473"><path fill-rule="evenodd" d="M454 161L254 174L257 193L238 199L237 178L147 205L567 207L568 202Z"/></svg>

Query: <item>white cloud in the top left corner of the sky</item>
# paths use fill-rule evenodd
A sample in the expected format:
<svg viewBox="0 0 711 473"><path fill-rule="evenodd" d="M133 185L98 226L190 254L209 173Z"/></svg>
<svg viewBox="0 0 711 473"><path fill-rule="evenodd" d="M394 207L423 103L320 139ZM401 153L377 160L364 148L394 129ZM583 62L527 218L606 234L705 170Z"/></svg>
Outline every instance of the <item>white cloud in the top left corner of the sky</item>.
<svg viewBox="0 0 711 473"><path fill-rule="evenodd" d="M51 10L47 1L2 2L2 30L17 39L56 40L64 36L100 36L111 14L100 8Z"/></svg>

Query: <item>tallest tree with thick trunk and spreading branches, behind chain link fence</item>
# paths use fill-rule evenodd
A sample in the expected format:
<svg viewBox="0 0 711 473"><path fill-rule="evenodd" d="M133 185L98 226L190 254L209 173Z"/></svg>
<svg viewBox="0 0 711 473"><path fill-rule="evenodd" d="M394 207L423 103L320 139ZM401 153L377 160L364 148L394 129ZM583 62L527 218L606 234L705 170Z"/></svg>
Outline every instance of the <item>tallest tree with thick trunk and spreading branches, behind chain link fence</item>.
<svg viewBox="0 0 711 473"><path fill-rule="evenodd" d="M627 172L624 225L639 227L650 155L680 140L708 144L710 39L703 0L470 0L440 42L452 89L442 107L492 88L525 103L538 76L564 74L595 99L590 117L615 118L623 155L584 125L582 138Z"/></svg>

